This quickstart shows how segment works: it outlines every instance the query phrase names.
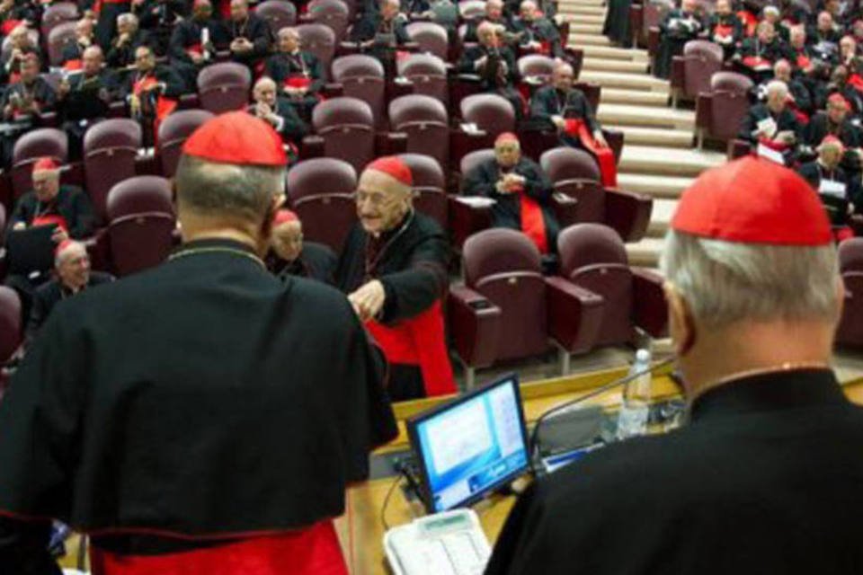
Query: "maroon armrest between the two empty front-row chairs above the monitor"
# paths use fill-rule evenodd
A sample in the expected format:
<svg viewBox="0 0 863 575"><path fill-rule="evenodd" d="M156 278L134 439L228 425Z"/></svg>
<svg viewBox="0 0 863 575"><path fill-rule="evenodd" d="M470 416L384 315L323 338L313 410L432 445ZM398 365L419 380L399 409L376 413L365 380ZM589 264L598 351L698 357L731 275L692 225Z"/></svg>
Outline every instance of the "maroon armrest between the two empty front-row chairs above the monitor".
<svg viewBox="0 0 863 575"><path fill-rule="evenodd" d="M548 334L569 353L593 347L600 333L605 300L560 277L546 278Z"/></svg>

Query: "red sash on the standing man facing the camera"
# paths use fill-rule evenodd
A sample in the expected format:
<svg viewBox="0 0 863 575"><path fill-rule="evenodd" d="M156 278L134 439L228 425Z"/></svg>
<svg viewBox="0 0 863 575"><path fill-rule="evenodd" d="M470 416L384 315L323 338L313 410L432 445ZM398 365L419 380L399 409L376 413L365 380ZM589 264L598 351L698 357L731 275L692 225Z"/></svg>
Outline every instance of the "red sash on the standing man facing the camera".
<svg viewBox="0 0 863 575"><path fill-rule="evenodd" d="M456 393L444 338L443 314L436 301L422 314L387 326L369 320L366 328L378 341L389 363L418 365L428 397Z"/></svg>

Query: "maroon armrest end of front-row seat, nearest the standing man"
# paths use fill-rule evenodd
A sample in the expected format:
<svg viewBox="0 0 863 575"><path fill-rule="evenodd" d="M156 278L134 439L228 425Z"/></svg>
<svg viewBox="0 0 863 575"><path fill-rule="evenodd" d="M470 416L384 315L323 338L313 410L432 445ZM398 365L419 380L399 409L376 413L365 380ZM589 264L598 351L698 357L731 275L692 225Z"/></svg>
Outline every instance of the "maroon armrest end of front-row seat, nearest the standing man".
<svg viewBox="0 0 863 575"><path fill-rule="evenodd" d="M449 291L449 333L458 357L470 367L489 367L497 358L503 324L501 308L476 291Z"/></svg>

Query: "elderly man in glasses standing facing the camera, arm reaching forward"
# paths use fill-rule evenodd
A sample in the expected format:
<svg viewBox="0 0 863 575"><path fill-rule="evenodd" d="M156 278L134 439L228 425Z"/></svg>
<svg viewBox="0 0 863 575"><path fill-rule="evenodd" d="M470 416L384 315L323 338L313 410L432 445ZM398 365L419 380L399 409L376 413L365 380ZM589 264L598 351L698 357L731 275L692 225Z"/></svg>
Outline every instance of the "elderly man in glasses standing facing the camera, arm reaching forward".
<svg viewBox="0 0 863 575"><path fill-rule="evenodd" d="M390 363L394 401L454 394L440 299L449 284L449 244L414 210L413 176L398 157L378 158L360 176L357 216L335 272Z"/></svg>

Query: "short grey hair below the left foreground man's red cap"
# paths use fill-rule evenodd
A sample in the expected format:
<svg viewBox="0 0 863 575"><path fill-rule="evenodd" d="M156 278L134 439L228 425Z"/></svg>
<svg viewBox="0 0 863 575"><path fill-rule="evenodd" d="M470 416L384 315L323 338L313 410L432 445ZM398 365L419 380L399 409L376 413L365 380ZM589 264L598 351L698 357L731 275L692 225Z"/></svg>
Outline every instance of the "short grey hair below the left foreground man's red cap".
<svg viewBox="0 0 863 575"><path fill-rule="evenodd" d="M204 216L261 221L285 190L285 169L208 162L182 155L174 176L177 200Z"/></svg>

